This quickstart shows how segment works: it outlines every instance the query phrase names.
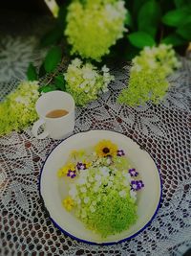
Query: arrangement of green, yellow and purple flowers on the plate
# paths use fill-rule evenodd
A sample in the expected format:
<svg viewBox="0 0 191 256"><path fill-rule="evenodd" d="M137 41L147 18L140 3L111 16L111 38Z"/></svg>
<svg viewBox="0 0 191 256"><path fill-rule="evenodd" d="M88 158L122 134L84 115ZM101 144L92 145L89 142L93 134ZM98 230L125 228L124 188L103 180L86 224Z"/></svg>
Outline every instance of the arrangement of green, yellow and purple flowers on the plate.
<svg viewBox="0 0 191 256"><path fill-rule="evenodd" d="M72 151L57 172L69 184L63 206L101 237L128 229L138 220L138 191L144 187L126 152L110 140Z"/></svg>

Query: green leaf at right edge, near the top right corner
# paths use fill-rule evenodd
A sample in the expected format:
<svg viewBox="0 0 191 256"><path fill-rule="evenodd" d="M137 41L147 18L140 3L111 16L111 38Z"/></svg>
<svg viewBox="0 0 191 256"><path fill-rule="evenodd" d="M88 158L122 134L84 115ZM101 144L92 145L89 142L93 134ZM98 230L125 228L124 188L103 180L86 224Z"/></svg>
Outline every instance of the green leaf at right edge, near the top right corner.
<svg viewBox="0 0 191 256"><path fill-rule="evenodd" d="M173 10L167 12L162 17L162 22L168 26L179 27L180 25L185 24L190 19L190 12L187 8L181 8L179 10Z"/></svg>

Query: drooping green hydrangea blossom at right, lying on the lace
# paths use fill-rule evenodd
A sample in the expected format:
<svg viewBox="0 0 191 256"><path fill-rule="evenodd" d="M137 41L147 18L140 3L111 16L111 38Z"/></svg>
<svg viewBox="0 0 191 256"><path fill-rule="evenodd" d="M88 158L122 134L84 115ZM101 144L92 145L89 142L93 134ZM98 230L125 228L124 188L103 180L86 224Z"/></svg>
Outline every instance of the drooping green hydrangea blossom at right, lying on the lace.
<svg viewBox="0 0 191 256"><path fill-rule="evenodd" d="M170 85L166 77L180 67L172 46L145 47L132 62L128 87L121 91L117 102L131 106L148 101L159 104Z"/></svg>

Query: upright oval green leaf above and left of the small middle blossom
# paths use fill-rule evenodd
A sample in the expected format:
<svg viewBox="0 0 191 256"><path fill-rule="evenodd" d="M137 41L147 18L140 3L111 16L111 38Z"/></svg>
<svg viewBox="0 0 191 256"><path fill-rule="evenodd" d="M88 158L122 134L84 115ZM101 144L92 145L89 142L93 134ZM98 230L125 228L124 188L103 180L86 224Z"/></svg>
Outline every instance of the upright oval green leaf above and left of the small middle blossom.
<svg viewBox="0 0 191 256"><path fill-rule="evenodd" d="M50 73L56 68L57 64L60 62L62 58L62 52L59 46L54 46L47 54L44 67L45 70Z"/></svg>

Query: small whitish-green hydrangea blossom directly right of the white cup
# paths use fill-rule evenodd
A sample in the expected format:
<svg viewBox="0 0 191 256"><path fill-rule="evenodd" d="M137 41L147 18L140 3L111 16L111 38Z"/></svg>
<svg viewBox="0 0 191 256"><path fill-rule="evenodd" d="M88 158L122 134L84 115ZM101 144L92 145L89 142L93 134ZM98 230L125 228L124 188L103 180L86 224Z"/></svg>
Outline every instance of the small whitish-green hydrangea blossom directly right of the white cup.
<svg viewBox="0 0 191 256"><path fill-rule="evenodd" d="M107 85L114 77L110 75L109 69L103 66L98 72L96 66L75 58L65 73L66 89L74 97L76 105L87 105L97 99L98 94L106 92Z"/></svg>

